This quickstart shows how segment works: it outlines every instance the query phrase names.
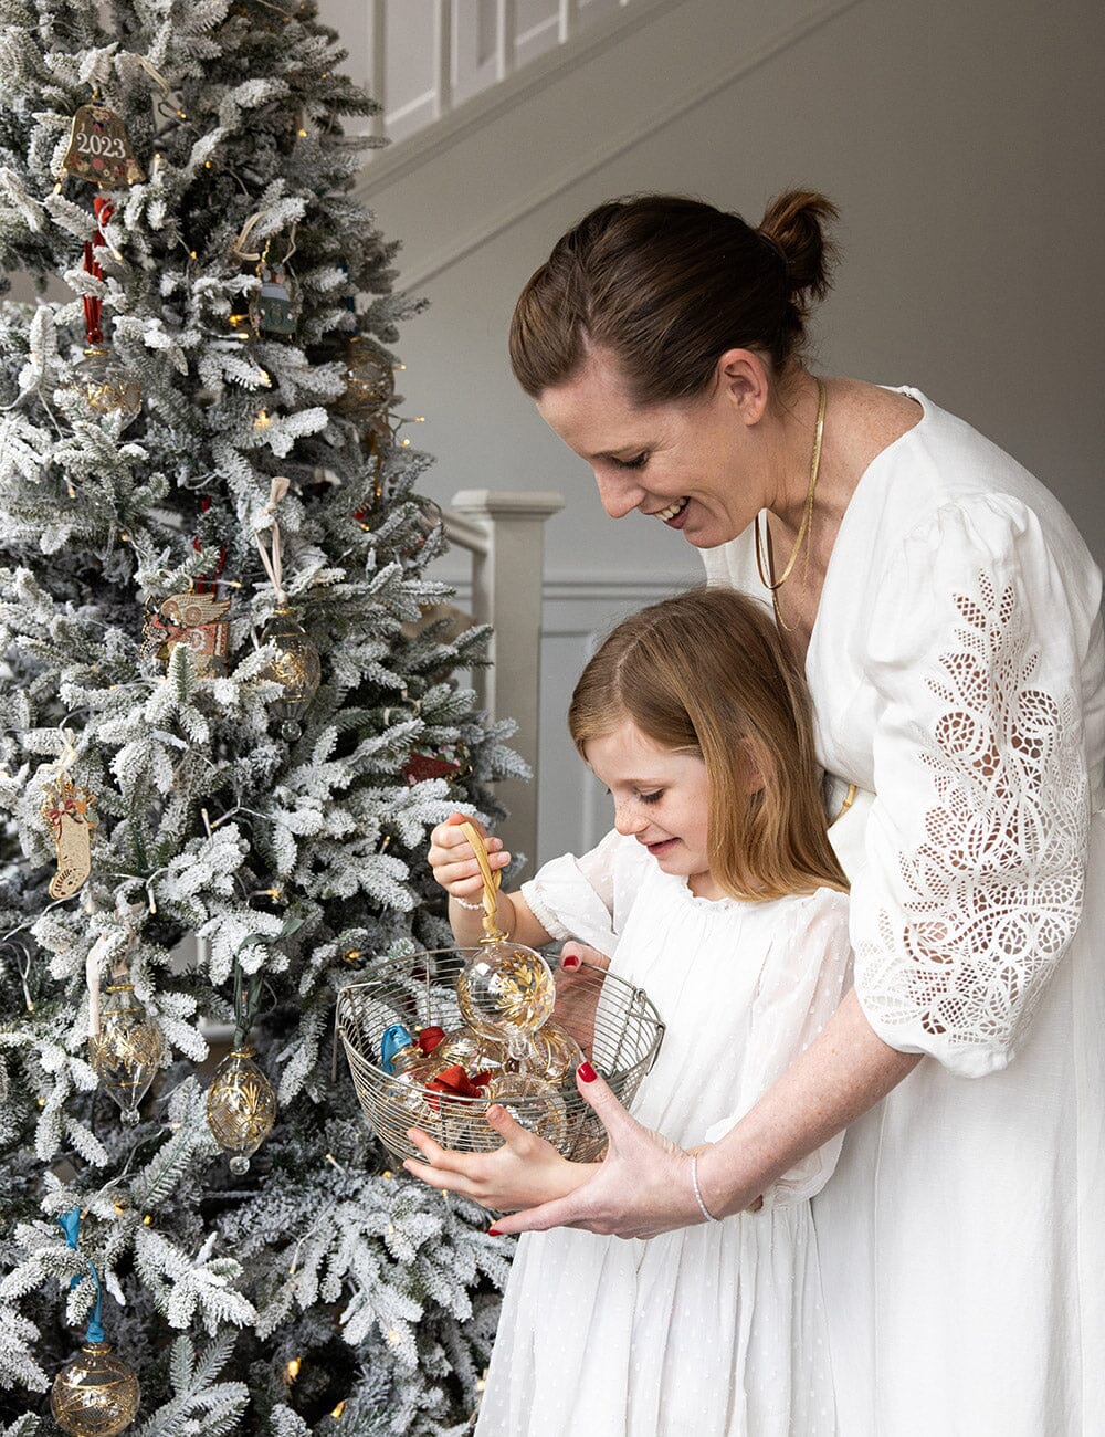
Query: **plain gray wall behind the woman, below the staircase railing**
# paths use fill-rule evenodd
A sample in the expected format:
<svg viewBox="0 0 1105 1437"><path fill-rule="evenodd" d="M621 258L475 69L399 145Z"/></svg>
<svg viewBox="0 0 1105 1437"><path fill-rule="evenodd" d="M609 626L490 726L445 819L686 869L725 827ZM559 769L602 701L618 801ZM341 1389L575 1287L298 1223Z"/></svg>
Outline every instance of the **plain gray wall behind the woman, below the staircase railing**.
<svg viewBox="0 0 1105 1437"><path fill-rule="evenodd" d="M404 332L402 379L408 411L427 415L415 437L438 458L434 497L447 503L458 489L484 486L568 497L547 529L539 856L578 851L606 822L563 733L593 632L701 576L675 535L644 519L606 519L589 471L509 372L514 297L592 204L674 190L759 220L777 190L822 188L842 213L843 259L816 318L816 366L915 384L963 415L1059 494L1105 563L1105 7L809 0L809 23L797 23L792 4L789 37L764 30L757 47L750 26L770 26L786 9L782 0L687 0L632 47L606 55L585 99L565 91L558 108L546 96L529 129L524 108L509 116L506 148L493 132L483 141L494 195L480 193L477 207L490 214L512 187L517 203L500 205L486 241L458 244L454 260L450 237L473 224L464 194L478 191L478 158L466 161L473 168L463 182L464 157L441 155L378 185L371 200L385 231L407 237L407 272L431 300ZM672 85L687 86L677 75L683 50L701 43L695 63L706 68L730 22L734 47L750 56L734 62L731 80L542 194L558 145L572 154L579 144L581 112L602 134L637 96L664 103ZM440 207L435 195L447 197Z"/></svg>

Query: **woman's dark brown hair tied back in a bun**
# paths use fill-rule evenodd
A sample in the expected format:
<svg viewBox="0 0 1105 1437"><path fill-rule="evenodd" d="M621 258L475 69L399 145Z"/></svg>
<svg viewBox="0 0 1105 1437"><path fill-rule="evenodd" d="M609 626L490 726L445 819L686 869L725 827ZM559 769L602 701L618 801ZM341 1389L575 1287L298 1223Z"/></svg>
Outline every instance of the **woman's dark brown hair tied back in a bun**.
<svg viewBox="0 0 1105 1437"><path fill-rule="evenodd" d="M631 402L706 391L720 355L756 349L782 375L806 341L812 299L829 290L835 205L790 190L759 228L681 195L592 210L526 285L510 362L532 398L570 379L592 348L611 352Z"/></svg>

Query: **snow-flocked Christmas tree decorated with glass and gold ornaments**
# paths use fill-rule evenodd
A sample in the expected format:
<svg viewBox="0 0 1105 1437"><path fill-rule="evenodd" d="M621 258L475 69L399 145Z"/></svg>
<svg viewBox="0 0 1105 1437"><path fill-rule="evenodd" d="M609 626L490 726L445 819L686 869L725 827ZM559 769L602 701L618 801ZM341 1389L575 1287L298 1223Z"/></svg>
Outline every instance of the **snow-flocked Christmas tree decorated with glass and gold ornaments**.
<svg viewBox="0 0 1105 1437"><path fill-rule="evenodd" d="M461 1430L500 1249L330 1079L516 767L425 624L372 106L313 0L0 19L0 1430L126 1368L141 1437Z"/></svg>

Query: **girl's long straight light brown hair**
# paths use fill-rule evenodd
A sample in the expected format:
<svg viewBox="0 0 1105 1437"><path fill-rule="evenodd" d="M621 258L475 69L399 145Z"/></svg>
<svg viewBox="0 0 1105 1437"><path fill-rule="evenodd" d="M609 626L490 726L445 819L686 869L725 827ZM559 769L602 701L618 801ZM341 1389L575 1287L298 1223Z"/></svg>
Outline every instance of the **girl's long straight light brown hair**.
<svg viewBox="0 0 1105 1437"><path fill-rule="evenodd" d="M848 881L826 832L806 685L767 611L733 589L691 589L621 622L583 670L568 726L591 739L631 718L698 754L710 789L710 872L733 898ZM749 792L750 776L763 780Z"/></svg>

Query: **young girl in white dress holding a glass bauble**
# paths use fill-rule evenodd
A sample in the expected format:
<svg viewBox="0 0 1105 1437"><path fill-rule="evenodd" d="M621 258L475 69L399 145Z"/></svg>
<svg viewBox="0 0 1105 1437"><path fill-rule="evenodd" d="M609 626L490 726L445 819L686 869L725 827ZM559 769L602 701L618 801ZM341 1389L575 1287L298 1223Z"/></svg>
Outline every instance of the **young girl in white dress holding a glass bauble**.
<svg viewBox="0 0 1105 1437"><path fill-rule="evenodd" d="M614 798L615 831L500 895L500 927L533 947L576 937L612 951L611 971L667 1023L634 1115L683 1147L716 1141L813 1039L848 971L805 687L766 609L695 591L611 634L569 727ZM434 831L430 861L468 946L481 885L454 819ZM410 1171L501 1209L589 1175L491 1121L510 1140L499 1152L451 1154L418 1135L428 1165ZM813 1154L756 1211L716 1221L700 1198L701 1226L649 1242L526 1233L478 1437L835 1433L809 1198L838 1152L839 1140Z"/></svg>

